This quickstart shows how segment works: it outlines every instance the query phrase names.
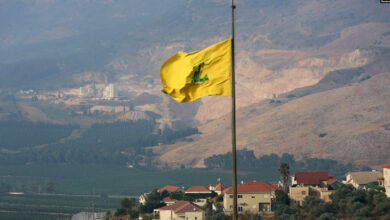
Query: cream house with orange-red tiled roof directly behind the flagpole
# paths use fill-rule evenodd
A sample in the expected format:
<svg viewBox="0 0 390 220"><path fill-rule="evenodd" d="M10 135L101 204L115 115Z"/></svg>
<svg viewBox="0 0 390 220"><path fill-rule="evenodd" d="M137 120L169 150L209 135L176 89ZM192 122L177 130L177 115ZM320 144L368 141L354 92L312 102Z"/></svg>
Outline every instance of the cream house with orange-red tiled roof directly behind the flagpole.
<svg viewBox="0 0 390 220"><path fill-rule="evenodd" d="M238 212L260 213L271 211L275 191L279 188L263 181L250 181L237 185ZM224 211L233 211L233 189L229 187L223 198Z"/></svg>

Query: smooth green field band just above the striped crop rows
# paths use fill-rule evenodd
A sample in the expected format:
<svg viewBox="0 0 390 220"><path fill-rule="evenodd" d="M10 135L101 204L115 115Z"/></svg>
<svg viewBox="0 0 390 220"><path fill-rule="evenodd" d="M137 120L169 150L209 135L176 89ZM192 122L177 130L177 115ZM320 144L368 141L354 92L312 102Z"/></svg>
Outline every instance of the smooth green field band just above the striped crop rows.
<svg viewBox="0 0 390 220"><path fill-rule="evenodd" d="M239 181L277 181L274 172L239 173ZM216 184L220 179L231 185L231 171L209 169L148 170L118 165L20 165L0 166L0 182L12 191L83 195L137 196L167 184L189 187ZM40 190L40 191L39 191Z"/></svg>

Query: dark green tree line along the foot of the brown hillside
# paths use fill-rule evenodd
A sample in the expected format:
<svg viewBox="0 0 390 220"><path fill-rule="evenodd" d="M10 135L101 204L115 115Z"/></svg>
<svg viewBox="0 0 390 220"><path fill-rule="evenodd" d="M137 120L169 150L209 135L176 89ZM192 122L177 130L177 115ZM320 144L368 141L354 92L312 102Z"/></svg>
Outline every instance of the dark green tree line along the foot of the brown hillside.
<svg viewBox="0 0 390 220"><path fill-rule="evenodd" d="M226 153L208 157L204 160L204 163L209 169L231 169L231 161L231 153ZM306 170L321 170L328 171L335 177L342 177L348 171L356 169L352 164L344 165L330 159L306 158L296 161L293 155L286 153L282 156L270 154L257 158L253 151L246 149L237 151L237 161L238 170L259 171L264 169L262 173L275 172L281 163L288 164L292 173Z"/></svg>

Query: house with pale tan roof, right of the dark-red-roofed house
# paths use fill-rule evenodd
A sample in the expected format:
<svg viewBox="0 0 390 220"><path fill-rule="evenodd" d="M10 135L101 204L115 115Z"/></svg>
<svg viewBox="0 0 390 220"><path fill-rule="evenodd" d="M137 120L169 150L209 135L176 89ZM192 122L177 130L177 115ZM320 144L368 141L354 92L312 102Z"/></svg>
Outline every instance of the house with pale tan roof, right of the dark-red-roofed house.
<svg viewBox="0 0 390 220"><path fill-rule="evenodd" d="M377 182L382 177L379 171L349 172L345 175L343 184L351 184L356 189L366 189L367 184Z"/></svg>

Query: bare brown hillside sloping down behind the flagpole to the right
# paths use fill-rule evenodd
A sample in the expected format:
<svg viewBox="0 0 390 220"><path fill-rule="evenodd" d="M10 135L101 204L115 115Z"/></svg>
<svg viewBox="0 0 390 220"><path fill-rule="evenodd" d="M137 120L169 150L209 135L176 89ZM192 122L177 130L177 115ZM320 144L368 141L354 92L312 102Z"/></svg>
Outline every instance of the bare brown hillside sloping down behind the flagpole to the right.
<svg viewBox="0 0 390 220"><path fill-rule="evenodd" d="M390 73L285 104L264 101L238 113L238 149L257 155L291 153L378 165L390 157ZM238 97L240 99L241 97ZM160 146L170 165L203 166L203 159L231 150L230 116L199 128L194 142Z"/></svg>

